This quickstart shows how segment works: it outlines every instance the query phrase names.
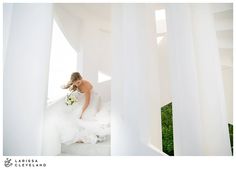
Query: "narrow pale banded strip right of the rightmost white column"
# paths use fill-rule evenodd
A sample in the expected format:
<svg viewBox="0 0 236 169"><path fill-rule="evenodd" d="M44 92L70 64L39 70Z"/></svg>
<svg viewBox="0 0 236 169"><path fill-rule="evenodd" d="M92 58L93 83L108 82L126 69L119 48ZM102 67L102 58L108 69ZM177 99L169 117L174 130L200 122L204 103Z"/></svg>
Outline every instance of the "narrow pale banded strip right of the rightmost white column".
<svg viewBox="0 0 236 169"><path fill-rule="evenodd" d="M228 122L233 122L233 3L211 4L218 39Z"/></svg>

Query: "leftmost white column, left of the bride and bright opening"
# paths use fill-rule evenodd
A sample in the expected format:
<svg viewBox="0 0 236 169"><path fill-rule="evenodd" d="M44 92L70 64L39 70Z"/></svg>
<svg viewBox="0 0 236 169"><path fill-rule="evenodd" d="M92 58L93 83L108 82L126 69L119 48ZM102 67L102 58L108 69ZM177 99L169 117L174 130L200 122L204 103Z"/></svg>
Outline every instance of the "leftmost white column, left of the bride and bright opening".
<svg viewBox="0 0 236 169"><path fill-rule="evenodd" d="M13 5L3 82L4 155L41 155L51 31L52 4Z"/></svg>

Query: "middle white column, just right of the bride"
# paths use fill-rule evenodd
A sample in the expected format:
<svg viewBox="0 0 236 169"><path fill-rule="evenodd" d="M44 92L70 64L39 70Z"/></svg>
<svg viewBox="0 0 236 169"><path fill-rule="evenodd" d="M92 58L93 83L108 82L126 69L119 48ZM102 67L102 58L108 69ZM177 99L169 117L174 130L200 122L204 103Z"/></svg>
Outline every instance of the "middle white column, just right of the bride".
<svg viewBox="0 0 236 169"><path fill-rule="evenodd" d="M113 7L113 155L158 155L148 146L162 147L154 17L150 4Z"/></svg>

